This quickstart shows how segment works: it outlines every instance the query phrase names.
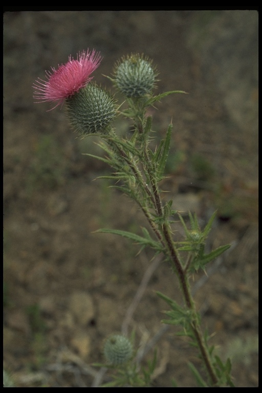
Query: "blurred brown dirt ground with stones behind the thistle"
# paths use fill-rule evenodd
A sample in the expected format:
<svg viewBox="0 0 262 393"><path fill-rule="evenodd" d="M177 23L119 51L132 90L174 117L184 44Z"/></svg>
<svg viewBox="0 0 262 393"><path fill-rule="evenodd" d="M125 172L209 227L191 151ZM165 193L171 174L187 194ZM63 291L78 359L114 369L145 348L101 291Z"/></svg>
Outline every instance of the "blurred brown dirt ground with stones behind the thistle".
<svg viewBox="0 0 262 393"><path fill-rule="evenodd" d="M152 110L159 140L172 119L169 191L179 210L203 225L218 209L207 247L231 243L192 282L203 329L238 387L258 385L258 16L256 11L45 11L4 14L4 368L18 387L97 386L108 380L107 335L136 333L141 349L159 333L152 386L195 386L195 352L175 329L163 331L166 305L181 300L176 277L151 251L93 233L134 230L134 203L96 180L110 173L82 153L101 154L96 137L76 138L65 108L35 104L32 84L83 49L100 51L94 78L112 89L115 61L131 52L154 59L158 92L183 90ZM113 90L113 89L112 89ZM121 99L121 98L119 98ZM128 128L117 120L117 130ZM166 194L163 194L163 198ZM149 275L148 268L152 272ZM133 304L141 280L148 283ZM149 350L142 364L151 359Z"/></svg>

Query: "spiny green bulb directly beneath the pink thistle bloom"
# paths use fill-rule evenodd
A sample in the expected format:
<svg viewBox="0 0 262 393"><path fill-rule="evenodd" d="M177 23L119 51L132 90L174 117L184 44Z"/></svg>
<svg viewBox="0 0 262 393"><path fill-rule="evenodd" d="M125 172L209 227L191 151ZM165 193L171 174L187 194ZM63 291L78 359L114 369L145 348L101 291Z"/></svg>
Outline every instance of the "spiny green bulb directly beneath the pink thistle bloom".
<svg viewBox="0 0 262 393"><path fill-rule="evenodd" d="M92 83L66 102L72 126L83 135L104 132L117 112L116 102L110 94Z"/></svg>

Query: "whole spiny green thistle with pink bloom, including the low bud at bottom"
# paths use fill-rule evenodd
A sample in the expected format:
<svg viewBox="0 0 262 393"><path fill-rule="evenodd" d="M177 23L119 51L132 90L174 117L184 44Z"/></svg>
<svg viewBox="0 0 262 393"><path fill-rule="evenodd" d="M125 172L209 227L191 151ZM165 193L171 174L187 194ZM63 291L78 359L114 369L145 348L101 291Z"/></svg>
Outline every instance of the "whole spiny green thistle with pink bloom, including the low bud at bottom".
<svg viewBox="0 0 262 393"><path fill-rule="evenodd" d="M190 287L190 277L200 270L205 271L207 264L230 245L220 246L206 253L205 242L215 213L206 226L201 228L197 215L189 212L188 227L176 206L172 206L172 200L163 202L161 198L160 182L165 178L172 134L171 123L160 143L154 148L150 147L156 134L152 133L152 117L148 115L148 109L170 94L185 92L154 94L158 77L156 67L146 56L130 54L118 60L112 76L107 77L123 95L124 103L120 105L110 92L91 82L90 74L100 61L100 55L94 50L79 53L77 60L70 56L68 63L60 65L57 70L46 72L46 81L38 79L35 82L34 97L43 102L57 102L57 105L65 102L69 121L79 135L100 136L100 146L105 155L87 155L96 157L112 168L110 176L101 178L110 179L114 187L138 204L148 226L143 227L140 234L117 229L100 229L97 232L126 237L140 245L141 249L149 247L155 255L163 255L166 264L171 267L174 279L180 284L183 303L179 304L176 298L172 299L157 292L168 305L167 318L162 322L179 325L179 335L187 336L192 346L197 348L204 372L202 370L200 373L192 364L189 364L189 367L199 386L234 386L230 376L230 360L224 363L215 355L214 347L208 343L208 334L202 332L201 316ZM114 128L114 119L117 116L123 116L132 122L132 133L118 135ZM183 239L178 238L175 232L178 221L184 229ZM110 336L104 346L104 355L106 363L102 364L103 366L110 367L112 364L121 369L122 377L126 376L118 379L119 385L115 382L114 386L124 383L132 385L130 378L128 379L130 367L123 368L123 364L130 364L134 359L134 351L128 339L121 335ZM151 372L154 369L153 364L155 365L155 360L149 367ZM146 386L150 379L138 377L136 367L133 367L133 375L136 375L134 386ZM145 375L148 376L148 373Z"/></svg>

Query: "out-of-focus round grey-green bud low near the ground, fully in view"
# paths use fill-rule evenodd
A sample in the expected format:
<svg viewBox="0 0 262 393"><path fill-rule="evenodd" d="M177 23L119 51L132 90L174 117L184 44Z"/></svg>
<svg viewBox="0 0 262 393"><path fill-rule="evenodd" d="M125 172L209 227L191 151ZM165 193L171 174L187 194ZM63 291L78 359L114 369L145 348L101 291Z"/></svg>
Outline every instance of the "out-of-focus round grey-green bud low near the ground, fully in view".
<svg viewBox="0 0 262 393"><path fill-rule="evenodd" d="M112 364L123 364L132 356L133 347L128 338L114 334L104 344L104 356Z"/></svg>

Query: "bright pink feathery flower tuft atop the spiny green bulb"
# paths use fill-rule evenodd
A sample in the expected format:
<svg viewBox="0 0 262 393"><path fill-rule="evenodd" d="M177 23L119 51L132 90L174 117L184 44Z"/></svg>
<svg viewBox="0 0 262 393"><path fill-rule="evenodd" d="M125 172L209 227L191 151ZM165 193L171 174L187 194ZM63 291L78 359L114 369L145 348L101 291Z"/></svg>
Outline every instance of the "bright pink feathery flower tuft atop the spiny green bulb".
<svg viewBox="0 0 262 393"><path fill-rule="evenodd" d="M33 97L39 100L38 102L58 101L58 106L90 82L90 74L95 71L100 61L100 53L95 50L79 52L77 60L70 55L67 63L58 64L57 70L51 67L52 72L46 71L47 80L38 78L35 81Z"/></svg>

